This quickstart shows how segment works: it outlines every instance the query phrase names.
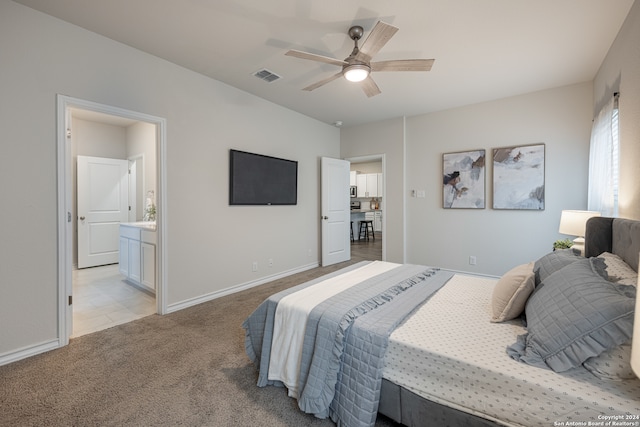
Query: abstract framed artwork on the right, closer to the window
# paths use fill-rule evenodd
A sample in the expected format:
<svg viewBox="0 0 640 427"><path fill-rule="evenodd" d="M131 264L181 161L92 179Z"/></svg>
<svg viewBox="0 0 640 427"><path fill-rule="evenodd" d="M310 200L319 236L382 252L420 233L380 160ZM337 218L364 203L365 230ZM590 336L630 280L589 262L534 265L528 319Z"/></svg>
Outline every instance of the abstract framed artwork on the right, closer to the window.
<svg viewBox="0 0 640 427"><path fill-rule="evenodd" d="M544 210L544 144L493 149L493 208Z"/></svg>

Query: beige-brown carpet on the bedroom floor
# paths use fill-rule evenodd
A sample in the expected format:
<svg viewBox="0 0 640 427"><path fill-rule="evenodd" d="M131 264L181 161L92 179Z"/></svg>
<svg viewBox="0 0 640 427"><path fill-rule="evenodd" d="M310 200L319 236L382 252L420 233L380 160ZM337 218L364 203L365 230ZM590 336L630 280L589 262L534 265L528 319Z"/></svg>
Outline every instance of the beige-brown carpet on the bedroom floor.
<svg viewBox="0 0 640 427"><path fill-rule="evenodd" d="M333 426L283 388L257 387L244 319L317 268L0 366L1 426ZM382 419L381 419L382 418ZM376 426L395 425L379 416Z"/></svg>

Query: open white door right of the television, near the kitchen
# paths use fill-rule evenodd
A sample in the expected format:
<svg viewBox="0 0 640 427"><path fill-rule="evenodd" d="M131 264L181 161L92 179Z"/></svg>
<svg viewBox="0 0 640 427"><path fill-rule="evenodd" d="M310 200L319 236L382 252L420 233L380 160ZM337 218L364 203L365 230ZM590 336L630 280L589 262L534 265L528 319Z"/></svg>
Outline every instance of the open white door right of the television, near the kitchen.
<svg viewBox="0 0 640 427"><path fill-rule="evenodd" d="M323 266L351 259L349 165L346 160L321 160Z"/></svg>

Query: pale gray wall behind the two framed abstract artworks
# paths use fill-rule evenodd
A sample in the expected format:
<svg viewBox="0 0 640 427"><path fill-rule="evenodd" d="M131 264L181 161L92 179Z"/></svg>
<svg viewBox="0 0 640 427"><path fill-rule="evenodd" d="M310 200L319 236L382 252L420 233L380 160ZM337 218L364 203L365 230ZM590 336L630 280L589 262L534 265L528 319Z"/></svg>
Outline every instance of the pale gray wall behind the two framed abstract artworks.
<svg viewBox="0 0 640 427"><path fill-rule="evenodd" d="M395 259L458 271L500 275L536 259L562 237L562 209L585 209L591 83L537 92L391 123L346 128L343 157L392 153L385 211ZM442 208L442 154L544 143L544 211L493 210L492 168L486 168L486 209ZM425 198L411 197L424 190ZM392 212L395 215L392 215ZM406 227L406 233L402 231ZM396 234L397 233L397 234ZM469 265L469 256L477 264Z"/></svg>

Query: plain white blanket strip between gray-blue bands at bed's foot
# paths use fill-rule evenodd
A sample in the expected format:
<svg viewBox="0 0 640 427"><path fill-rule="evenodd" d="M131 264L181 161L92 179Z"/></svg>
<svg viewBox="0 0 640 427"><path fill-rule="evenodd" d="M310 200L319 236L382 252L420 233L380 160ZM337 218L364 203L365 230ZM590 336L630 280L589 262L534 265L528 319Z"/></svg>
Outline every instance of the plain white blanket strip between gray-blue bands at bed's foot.
<svg viewBox="0 0 640 427"><path fill-rule="evenodd" d="M269 380L282 381L289 396L297 399L304 332L311 310L327 298L399 266L375 261L282 298L274 317Z"/></svg>

